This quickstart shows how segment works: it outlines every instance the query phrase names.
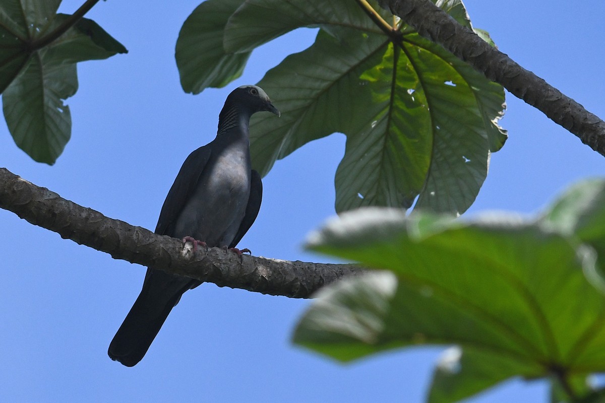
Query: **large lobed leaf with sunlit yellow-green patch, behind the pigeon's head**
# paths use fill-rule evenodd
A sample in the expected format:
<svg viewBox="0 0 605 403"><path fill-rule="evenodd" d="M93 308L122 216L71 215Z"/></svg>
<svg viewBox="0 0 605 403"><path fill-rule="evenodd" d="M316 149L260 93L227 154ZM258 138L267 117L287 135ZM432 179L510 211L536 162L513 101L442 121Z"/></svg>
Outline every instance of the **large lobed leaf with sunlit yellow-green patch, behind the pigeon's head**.
<svg viewBox="0 0 605 403"><path fill-rule="evenodd" d="M489 153L506 139L497 126L503 89L401 22L401 37L387 36L358 3L233 0L231 15L221 6L224 13L211 28L186 22L177 42L183 88L198 92L216 86L212 80L222 86L235 76L218 69L221 63L235 64L236 57L247 58L253 48L296 28L320 27L315 44L286 57L258 83L282 118L252 118L255 169L266 175L298 147L342 132L347 145L336 172L336 211L408 208L418 198L417 207L462 213L485 180ZM470 27L460 0L436 3ZM189 18L220 4L204 2ZM201 36L208 40L200 45L195 38ZM179 57L180 44L189 44L187 55ZM196 63L195 54L209 62Z"/></svg>

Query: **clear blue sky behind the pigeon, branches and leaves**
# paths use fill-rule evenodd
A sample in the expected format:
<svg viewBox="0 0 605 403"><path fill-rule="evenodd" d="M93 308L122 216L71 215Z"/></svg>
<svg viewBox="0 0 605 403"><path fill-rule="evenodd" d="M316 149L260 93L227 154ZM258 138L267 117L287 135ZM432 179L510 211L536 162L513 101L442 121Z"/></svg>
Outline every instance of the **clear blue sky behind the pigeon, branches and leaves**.
<svg viewBox="0 0 605 403"><path fill-rule="evenodd" d="M66 0L71 13L82 0ZM198 1L99 2L88 14L129 53L78 66L68 100L70 143L52 166L19 150L2 120L0 166L64 198L153 229L186 156L214 138L236 86L255 83L306 48L298 30L255 51L244 76L223 89L185 94L174 45ZM605 117L605 3L466 0L473 24L500 50ZM269 94L271 95L271 94ZM603 175L605 158L541 112L507 94L505 147L466 215L539 211L566 186ZM276 105L279 108L279 105ZM344 136L313 141L264 178L263 206L240 242L253 254L329 261L302 250L334 214L333 178ZM114 363L106 349L139 294L145 268L63 240L0 210L0 401L10 402L422 402L441 347L398 350L341 366L293 347L306 300L203 285L185 294L143 361ZM578 295L581 298L581 295ZM546 401L544 382L512 380L474 403Z"/></svg>

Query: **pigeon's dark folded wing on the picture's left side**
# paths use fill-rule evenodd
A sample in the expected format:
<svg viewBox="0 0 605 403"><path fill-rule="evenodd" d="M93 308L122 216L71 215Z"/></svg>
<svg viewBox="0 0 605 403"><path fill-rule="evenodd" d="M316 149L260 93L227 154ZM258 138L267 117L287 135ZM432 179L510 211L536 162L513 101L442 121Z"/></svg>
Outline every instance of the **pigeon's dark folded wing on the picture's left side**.
<svg viewBox="0 0 605 403"><path fill-rule="evenodd" d="M178 214L185 207L197 186L201 173L206 167L211 154L210 144L200 147L187 157L177 178L170 188L160 211L160 218L155 226L155 233L172 236L172 230Z"/></svg>

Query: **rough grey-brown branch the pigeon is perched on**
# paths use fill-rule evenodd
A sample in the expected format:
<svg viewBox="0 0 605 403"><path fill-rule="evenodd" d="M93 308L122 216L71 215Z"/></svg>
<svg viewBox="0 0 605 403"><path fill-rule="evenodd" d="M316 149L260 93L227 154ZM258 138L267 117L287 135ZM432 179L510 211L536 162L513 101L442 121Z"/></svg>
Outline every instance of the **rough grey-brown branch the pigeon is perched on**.
<svg viewBox="0 0 605 403"><path fill-rule="evenodd" d="M198 248L191 243L152 233L127 222L103 216L61 198L0 168L0 208L13 211L31 224L65 239L106 252L114 259L192 277L218 286L270 295L308 298L325 284L360 272L353 265L289 262L256 256L237 256L221 248Z"/></svg>

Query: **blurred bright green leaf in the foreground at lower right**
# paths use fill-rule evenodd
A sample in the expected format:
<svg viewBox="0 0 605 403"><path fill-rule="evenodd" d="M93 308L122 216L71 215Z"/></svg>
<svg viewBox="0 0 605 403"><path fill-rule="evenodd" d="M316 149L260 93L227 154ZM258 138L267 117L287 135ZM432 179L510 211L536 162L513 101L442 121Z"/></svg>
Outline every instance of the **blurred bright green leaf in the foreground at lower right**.
<svg viewBox="0 0 605 403"><path fill-rule="evenodd" d="M309 248L391 272L327 286L295 342L342 361L424 343L461 346L456 370L437 369L432 402L511 376L605 370L605 296L584 276L594 250L540 222L365 208L329 222Z"/></svg>

